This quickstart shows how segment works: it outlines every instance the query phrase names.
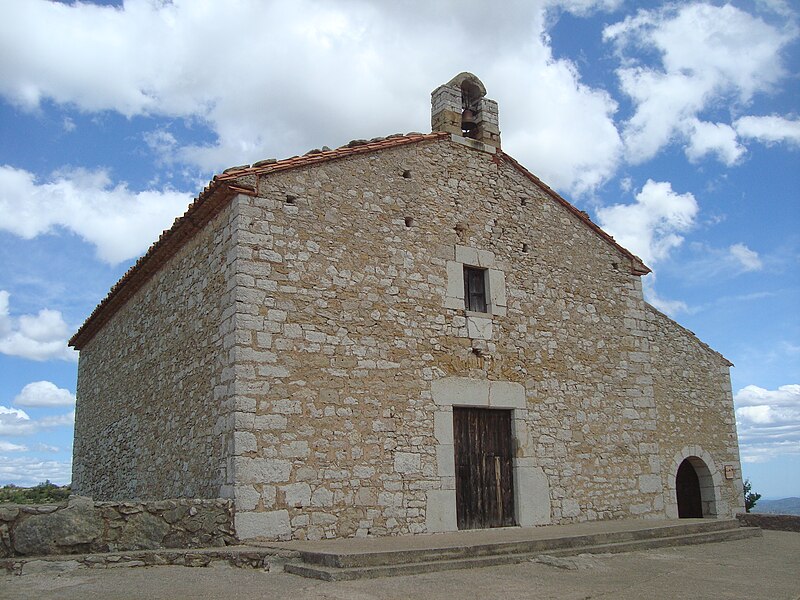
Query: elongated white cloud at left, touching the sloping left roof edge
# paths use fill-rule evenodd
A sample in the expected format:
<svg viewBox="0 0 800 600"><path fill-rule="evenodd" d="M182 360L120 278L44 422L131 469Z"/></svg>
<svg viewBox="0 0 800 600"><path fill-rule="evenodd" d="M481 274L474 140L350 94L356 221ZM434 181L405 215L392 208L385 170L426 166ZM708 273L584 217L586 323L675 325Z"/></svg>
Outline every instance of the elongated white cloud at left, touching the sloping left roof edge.
<svg viewBox="0 0 800 600"><path fill-rule="evenodd" d="M0 230L31 239L62 228L93 244L109 264L142 254L190 201L174 191L112 186L105 171L76 169L39 182L28 171L0 166Z"/></svg>

